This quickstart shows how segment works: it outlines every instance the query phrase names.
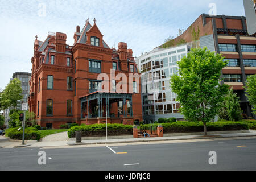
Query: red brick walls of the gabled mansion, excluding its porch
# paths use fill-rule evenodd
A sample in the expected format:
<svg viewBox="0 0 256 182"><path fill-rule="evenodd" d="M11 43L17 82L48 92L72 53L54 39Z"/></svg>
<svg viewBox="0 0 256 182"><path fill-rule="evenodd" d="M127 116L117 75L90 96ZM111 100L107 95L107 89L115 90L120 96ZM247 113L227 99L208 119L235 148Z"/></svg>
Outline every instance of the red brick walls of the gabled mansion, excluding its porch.
<svg viewBox="0 0 256 182"><path fill-rule="evenodd" d="M111 78L110 70L113 68L113 62L117 65L115 76L123 73L128 77L129 73L138 73L133 51L127 49L127 44L122 42L118 44L118 50L109 48L95 21L91 25L86 20L81 32L80 27L77 26L73 38L73 46L66 44L67 35L60 32L56 32L55 35L49 34L44 42L37 38L35 40L34 56L31 58L32 76L28 104L30 111L36 113L38 124L42 127L52 126L57 129L65 123L76 122L90 125L105 121L102 118L81 120L80 98L92 92L89 88L90 81L99 81L100 73L105 73ZM93 68L94 62L93 66L89 67L92 61L96 61L96 68ZM130 65L134 66L133 72L131 72ZM110 91L111 79L108 82ZM126 84L127 88L129 84L133 85L129 82ZM137 88L141 88L140 81L137 84ZM142 120L140 93L133 94L133 116L115 118L113 123L129 120L126 123L133 124L135 120ZM72 104L68 104L71 101Z"/></svg>

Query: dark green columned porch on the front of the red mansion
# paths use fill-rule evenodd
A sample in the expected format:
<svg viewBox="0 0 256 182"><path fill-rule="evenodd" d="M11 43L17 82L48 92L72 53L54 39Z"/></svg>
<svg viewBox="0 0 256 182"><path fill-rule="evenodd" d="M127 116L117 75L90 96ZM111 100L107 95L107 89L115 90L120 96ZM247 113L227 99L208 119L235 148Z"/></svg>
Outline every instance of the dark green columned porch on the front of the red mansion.
<svg viewBox="0 0 256 182"><path fill-rule="evenodd" d="M133 125L133 94L94 92L80 97L81 119L86 125L122 123Z"/></svg>

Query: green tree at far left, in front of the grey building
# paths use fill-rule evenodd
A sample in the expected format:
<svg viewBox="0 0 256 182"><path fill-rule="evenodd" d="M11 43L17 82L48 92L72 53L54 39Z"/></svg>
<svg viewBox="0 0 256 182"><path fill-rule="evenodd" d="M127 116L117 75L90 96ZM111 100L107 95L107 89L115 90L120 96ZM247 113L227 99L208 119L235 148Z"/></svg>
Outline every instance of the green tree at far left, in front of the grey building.
<svg viewBox="0 0 256 182"><path fill-rule="evenodd" d="M16 107L17 101L23 98L21 93L21 82L18 78L14 78L1 93L1 109L8 109L11 106Z"/></svg>

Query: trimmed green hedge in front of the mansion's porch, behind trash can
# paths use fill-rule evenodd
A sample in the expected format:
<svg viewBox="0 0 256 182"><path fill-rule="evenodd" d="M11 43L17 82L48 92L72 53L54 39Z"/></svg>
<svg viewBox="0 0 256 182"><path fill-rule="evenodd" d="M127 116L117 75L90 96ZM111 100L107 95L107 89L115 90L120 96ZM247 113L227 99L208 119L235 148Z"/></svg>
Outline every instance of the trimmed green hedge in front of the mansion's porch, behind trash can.
<svg viewBox="0 0 256 182"><path fill-rule="evenodd" d="M68 130L68 137L76 136L76 131L82 131L82 137L103 137L106 135L105 124L73 126ZM108 124L108 136L133 135L133 126L122 124Z"/></svg>

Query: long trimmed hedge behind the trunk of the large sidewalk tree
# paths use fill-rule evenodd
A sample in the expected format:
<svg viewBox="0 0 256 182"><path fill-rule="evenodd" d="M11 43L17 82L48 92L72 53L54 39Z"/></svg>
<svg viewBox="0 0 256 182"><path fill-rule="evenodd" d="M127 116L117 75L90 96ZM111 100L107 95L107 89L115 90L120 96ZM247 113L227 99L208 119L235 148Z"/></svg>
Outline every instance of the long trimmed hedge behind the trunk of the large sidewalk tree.
<svg viewBox="0 0 256 182"><path fill-rule="evenodd" d="M153 124L157 127L159 124ZM162 123L163 133L186 133L186 132L203 132L203 122L172 122ZM150 129L151 125L141 125L142 130ZM247 123L243 122L209 122L207 123L207 131L232 131L232 130L248 130Z"/></svg>

